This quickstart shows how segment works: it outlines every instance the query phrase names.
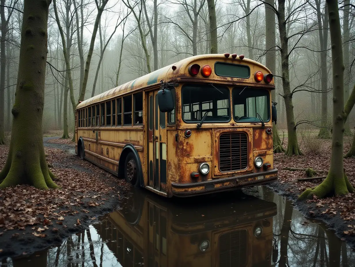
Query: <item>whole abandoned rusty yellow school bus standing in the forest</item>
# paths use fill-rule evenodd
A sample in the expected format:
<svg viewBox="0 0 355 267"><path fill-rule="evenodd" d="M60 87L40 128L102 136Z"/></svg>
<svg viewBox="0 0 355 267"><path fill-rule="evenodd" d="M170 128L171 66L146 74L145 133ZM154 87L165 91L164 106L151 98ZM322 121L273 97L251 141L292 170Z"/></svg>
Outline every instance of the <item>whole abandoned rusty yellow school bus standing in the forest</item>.
<svg viewBox="0 0 355 267"><path fill-rule="evenodd" d="M81 102L76 152L167 197L268 183L274 89L243 55L189 57Z"/></svg>

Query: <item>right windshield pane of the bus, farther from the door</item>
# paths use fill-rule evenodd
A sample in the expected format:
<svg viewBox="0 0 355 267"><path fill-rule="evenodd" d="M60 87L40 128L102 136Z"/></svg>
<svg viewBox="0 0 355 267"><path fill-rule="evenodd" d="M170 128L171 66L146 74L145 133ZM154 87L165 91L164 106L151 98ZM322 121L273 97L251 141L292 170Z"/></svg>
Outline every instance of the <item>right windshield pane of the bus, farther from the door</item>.
<svg viewBox="0 0 355 267"><path fill-rule="evenodd" d="M236 87L233 95L233 116L236 122L270 120L269 92L266 89Z"/></svg>

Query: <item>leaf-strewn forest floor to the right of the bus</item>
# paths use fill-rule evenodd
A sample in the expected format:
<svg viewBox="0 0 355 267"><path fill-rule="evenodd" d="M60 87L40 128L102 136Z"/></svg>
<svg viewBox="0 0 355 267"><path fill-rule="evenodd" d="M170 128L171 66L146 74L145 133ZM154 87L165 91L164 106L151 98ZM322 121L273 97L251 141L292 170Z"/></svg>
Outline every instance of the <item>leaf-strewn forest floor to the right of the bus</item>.
<svg viewBox="0 0 355 267"><path fill-rule="evenodd" d="M297 198L304 190L317 186L323 179L298 181L298 178L306 178L305 171L283 169L310 167L318 171L317 176L326 176L331 161L332 139L318 139L315 135L305 137L303 140L299 137L303 152L301 156L288 157L283 153L274 154L274 167L278 169L278 180L267 186L275 193L292 199L297 209L306 217L321 219L330 229L335 230L340 238L355 247L355 193L299 201ZM344 154L349 150L351 140L351 136L344 137ZM283 146L286 148L287 138L284 138ZM349 181L355 186L355 158L344 158L344 168Z"/></svg>

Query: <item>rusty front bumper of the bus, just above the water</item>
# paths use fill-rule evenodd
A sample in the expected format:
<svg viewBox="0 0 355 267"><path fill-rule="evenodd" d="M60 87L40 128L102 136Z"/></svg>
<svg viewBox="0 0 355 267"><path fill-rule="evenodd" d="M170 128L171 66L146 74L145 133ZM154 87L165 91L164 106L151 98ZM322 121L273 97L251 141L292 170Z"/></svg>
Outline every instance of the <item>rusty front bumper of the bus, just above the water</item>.
<svg viewBox="0 0 355 267"><path fill-rule="evenodd" d="M240 176L217 178L202 182L185 184L173 182L171 187L173 195L176 196L202 195L270 183L277 180L277 172L278 169L272 169L270 171L247 173Z"/></svg>

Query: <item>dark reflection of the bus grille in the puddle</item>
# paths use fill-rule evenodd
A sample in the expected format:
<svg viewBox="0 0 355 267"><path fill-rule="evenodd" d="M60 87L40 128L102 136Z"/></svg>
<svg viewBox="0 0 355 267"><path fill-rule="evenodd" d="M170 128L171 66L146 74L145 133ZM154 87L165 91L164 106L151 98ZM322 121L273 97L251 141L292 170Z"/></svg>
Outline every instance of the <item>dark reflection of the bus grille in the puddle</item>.
<svg viewBox="0 0 355 267"><path fill-rule="evenodd" d="M219 266L247 264L247 230L236 230L219 237Z"/></svg>

